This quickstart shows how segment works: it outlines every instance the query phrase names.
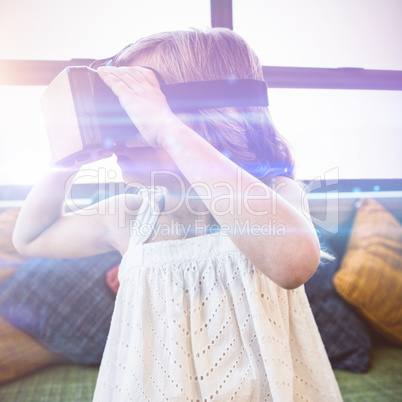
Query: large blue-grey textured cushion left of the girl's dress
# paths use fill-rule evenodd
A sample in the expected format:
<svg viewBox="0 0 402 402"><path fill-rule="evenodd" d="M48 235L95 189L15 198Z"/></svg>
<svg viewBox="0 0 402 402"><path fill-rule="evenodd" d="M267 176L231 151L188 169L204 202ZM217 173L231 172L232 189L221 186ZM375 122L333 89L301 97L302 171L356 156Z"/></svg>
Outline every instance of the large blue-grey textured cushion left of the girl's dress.
<svg viewBox="0 0 402 402"><path fill-rule="evenodd" d="M0 285L0 314L73 362L99 364L115 300L105 277L120 260L31 259Z"/></svg>

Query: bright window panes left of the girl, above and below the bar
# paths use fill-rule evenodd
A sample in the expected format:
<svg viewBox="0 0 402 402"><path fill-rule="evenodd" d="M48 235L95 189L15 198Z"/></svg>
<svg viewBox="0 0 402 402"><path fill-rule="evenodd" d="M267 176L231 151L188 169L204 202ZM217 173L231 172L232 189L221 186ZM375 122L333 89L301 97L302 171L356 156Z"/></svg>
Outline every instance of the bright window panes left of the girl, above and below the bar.
<svg viewBox="0 0 402 402"><path fill-rule="evenodd" d="M205 28L210 19L205 0L15 0L1 9L0 37L7 40L0 59L103 58L142 36ZM40 105L43 90L0 86L0 185L32 184L50 162ZM99 166L118 172L107 179L121 180L114 158L92 165Z"/></svg>

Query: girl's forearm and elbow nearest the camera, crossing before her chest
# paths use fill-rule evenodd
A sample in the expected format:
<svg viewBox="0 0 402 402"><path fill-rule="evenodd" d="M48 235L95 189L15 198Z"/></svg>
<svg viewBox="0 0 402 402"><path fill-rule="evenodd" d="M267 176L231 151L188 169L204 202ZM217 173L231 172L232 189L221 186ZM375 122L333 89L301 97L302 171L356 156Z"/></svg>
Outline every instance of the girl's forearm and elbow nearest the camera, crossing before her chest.
<svg viewBox="0 0 402 402"><path fill-rule="evenodd" d="M300 186L286 177L265 185L184 124L164 134L164 149L243 254L283 288L304 284L320 245Z"/></svg>

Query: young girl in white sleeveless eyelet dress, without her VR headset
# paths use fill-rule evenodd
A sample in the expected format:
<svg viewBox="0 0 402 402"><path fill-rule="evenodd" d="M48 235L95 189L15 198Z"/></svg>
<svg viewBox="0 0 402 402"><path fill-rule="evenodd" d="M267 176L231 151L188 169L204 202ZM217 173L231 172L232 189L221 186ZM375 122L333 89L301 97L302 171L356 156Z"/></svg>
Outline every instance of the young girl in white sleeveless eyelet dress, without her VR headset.
<svg viewBox="0 0 402 402"><path fill-rule="evenodd" d="M94 400L341 400L302 286L319 242L268 108L175 115L146 68L166 83L262 80L255 54L232 31L192 30L114 64L98 73L141 133L115 153L148 191L65 215L71 171L52 170L14 234L31 256L123 256Z"/></svg>

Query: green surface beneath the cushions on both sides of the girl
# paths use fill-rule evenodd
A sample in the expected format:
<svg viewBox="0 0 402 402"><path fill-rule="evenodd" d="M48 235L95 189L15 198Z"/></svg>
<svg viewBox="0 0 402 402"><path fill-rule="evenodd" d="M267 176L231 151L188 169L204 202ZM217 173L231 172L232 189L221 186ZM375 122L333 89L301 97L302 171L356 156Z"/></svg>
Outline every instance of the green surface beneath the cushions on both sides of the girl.
<svg viewBox="0 0 402 402"><path fill-rule="evenodd" d="M75 365L44 369L0 386L1 402L91 402L98 369ZM402 402L402 348L372 351L366 374L335 370L344 402Z"/></svg>

